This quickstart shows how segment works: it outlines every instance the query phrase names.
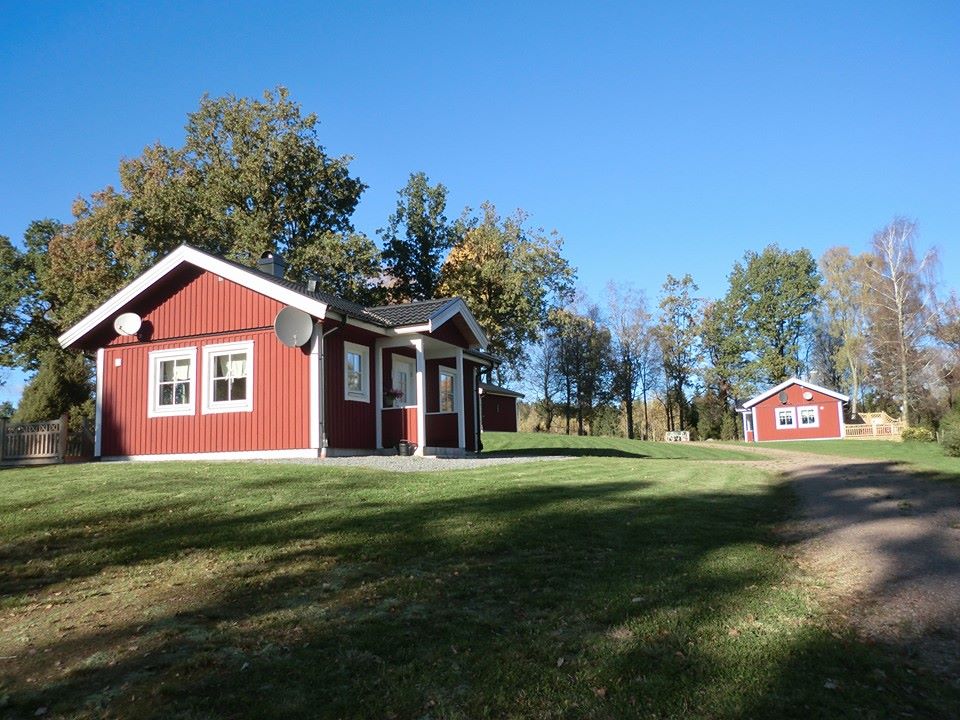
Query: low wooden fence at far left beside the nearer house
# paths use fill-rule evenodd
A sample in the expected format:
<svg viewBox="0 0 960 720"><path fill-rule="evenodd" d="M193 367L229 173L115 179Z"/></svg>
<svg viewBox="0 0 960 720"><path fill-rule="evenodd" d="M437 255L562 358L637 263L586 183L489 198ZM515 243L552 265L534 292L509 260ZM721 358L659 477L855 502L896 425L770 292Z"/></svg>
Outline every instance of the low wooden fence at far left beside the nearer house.
<svg viewBox="0 0 960 720"><path fill-rule="evenodd" d="M39 465L93 455L93 438L84 423L70 432L64 415L59 420L16 423L0 418L0 465Z"/></svg>

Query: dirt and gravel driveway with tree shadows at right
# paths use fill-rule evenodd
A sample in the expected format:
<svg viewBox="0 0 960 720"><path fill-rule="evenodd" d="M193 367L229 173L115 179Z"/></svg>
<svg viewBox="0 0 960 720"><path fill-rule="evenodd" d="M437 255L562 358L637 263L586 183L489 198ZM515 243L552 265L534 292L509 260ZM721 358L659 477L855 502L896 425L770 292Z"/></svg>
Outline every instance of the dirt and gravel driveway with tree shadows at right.
<svg viewBox="0 0 960 720"><path fill-rule="evenodd" d="M960 684L960 486L895 463L756 451L800 499L785 531L826 599Z"/></svg>

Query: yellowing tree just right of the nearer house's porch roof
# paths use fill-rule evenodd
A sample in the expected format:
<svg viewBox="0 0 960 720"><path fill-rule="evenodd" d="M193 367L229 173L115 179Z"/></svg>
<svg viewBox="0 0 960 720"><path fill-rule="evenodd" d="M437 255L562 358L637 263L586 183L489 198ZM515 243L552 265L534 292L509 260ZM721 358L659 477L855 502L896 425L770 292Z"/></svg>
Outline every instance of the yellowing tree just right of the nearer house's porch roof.
<svg viewBox="0 0 960 720"><path fill-rule="evenodd" d="M439 292L463 298L483 326L488 350L516 375L524 347L540 338L550 310L570 296L574 273L563 241L527 226L520 211L501 218L493 205L466 231L443 265ZM501 378L502 379L502 378Z"/></svg>

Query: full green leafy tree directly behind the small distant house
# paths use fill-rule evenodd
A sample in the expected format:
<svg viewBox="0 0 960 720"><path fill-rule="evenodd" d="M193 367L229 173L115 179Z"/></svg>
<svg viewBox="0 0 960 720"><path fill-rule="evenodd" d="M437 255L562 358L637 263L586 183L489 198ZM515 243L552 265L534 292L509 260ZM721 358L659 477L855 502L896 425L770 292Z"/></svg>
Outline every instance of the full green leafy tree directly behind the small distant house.
<svg viewBox="0 0 960 720"><path fill-rule="evenodd" d="M769 245L734 265L728 298L738 307L759 382L776 384L801 373L802 344L819 287L817 263L806 249Z"/></svg>

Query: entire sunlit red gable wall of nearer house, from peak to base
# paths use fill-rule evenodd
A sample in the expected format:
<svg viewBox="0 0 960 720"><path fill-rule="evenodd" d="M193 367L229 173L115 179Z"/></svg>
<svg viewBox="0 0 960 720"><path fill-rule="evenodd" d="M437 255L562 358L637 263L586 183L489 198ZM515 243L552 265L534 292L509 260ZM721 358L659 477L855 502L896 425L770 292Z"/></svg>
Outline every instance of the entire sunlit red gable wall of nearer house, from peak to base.
<svg viewBox="0 0 960 720"><path fill-rule="evenodd" d="M176 274L129 309L143 317L138 336L112 332L103 363L102 454L154 455L306 448L309 438L309 349L288 348L273 334L281 303L211 273ZM253 411L204 415L203 348L252 340ZM149 354L197 349L194 414L147 417ZM119 365L117 362L119 361Z"/></svg>

